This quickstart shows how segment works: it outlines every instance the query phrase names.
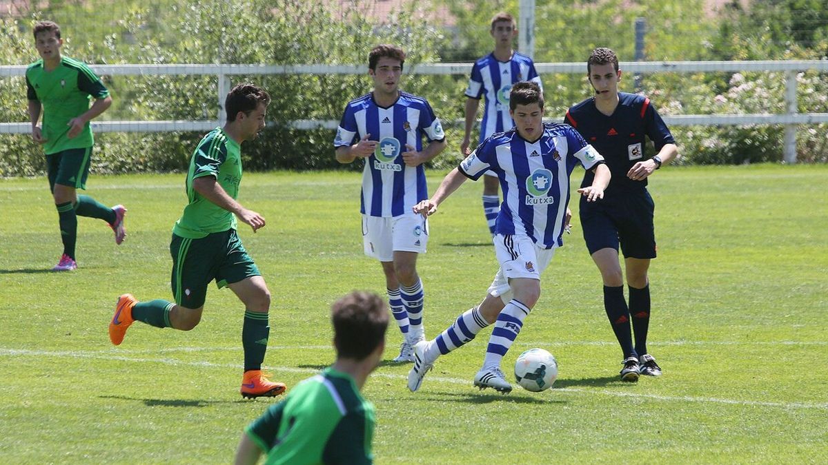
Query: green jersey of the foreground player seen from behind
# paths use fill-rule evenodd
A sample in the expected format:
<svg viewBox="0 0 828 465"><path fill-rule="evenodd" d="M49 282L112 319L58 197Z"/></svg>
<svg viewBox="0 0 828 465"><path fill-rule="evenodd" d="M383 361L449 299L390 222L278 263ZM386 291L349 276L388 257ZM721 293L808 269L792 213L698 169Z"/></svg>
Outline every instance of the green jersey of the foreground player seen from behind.
<svg viewBox="0 0 828 465"><path fill-rule="evenodd" d="M267 463L373 463L373 405L329 367L302 381L245 431Z"/></svg>

